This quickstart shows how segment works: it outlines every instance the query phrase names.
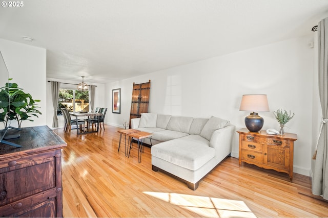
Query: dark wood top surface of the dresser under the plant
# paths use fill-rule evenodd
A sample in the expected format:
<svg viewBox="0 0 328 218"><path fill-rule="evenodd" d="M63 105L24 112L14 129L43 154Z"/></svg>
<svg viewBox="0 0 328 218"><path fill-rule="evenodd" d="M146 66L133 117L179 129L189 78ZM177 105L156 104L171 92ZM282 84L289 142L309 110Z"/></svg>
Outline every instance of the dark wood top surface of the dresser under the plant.
<svg viewBox="0 0 328 218"><path fill-rule="evenodd" d="M22 148L0 143L0 160L17 155L61 149L67 146L67 143L48 126L26 127L21 130L9 129L6 136L15 134L19 134L19 138L7 139L7 141L19 144Z"/></svg>

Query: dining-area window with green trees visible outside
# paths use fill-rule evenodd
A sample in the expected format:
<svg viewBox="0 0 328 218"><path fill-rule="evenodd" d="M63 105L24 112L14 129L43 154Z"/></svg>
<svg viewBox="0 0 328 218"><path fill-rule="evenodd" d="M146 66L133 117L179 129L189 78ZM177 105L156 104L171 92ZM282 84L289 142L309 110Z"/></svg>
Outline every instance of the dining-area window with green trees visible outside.
<svg viewBox="0 0 328 218"><path fill-rule="evenodd" d="M61 115L60 108L67 108L70 112L89 111L89 91L59 89L57 115Z"/></svg>

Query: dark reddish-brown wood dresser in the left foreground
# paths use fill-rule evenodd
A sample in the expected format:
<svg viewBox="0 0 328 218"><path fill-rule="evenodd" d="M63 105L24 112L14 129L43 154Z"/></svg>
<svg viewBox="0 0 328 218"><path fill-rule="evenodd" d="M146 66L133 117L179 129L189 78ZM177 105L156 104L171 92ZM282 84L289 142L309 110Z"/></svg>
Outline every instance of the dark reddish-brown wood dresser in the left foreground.
<svg viewBox="0 0 328 218"><path fill-rule="evenodd" d="M0 216L63 217L61 149L66 142L49 127L8 130L15 148L0 143Z"/></svg>

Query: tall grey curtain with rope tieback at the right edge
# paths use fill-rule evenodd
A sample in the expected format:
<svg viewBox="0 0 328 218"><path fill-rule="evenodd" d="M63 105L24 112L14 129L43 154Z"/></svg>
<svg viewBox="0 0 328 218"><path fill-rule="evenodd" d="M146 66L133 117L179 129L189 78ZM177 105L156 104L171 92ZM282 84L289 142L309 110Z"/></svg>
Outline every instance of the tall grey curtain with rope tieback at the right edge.
<svg viewBox="0 0 328 218"><path fill-rule="evenodd" d="M322 119L328 118L328 17L318 24L318 81ZM328 200L328 123L322 122L318 139L312 193Z"/></svg>

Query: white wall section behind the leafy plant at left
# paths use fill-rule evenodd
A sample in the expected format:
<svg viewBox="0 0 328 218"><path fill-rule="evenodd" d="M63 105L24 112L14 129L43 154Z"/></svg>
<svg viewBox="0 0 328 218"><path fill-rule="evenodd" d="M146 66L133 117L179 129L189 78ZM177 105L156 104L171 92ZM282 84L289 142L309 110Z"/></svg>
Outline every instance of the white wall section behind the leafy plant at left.
<svg viewBox="0 0 328 218"><path fill-rule="evenodd" d="M6 62L9 78L12 83L17 83L23 91L30 93L37 103L42 114L31 117L33 122L25 120L22 127L46 125L46 50L0 39L0 51ZM18 127L17 122L11 121L11 126Z"/></svg>

